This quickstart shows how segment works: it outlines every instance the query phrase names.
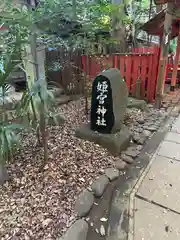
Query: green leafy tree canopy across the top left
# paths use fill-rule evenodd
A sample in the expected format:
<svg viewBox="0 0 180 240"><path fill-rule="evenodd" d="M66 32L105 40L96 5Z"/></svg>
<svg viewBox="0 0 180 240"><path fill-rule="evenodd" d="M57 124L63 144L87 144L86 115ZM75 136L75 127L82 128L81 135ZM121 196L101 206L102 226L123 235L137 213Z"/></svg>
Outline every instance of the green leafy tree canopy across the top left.
<svg viewBox="0 0 180 240"><path fill-rule="evenodd" d="M72 1L42 0L35 11L7 5L9 14L3 15L0 24L8 25L9 32L3 33L1 40L8 45L18 33L21 41L27 43L32 31L38 29L38 40L48 46L86 47L87 42L97 43L97 33L113 31L112 17L117 21L123 20L124 24L129 21L123 14L123 8L124 4L114 5L108 0L74 0L74 5ZM68 32L68 28L73 28L75 23L80 29ZM62 35L66 32L69 34L64 38ZM103 38L102 35L98 42Z"/></svg>

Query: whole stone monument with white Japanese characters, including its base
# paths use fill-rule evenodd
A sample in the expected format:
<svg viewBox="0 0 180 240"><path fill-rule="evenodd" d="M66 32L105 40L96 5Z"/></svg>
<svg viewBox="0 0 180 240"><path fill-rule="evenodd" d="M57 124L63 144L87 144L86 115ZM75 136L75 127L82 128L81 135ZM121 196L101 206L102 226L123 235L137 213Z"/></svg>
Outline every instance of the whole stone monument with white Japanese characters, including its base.
<svg viewBox="0 0 180 240"><path fill-rule="evenodd" d="M120 71L101 72L92 85L90 124L77 129L76 136L118 155L130 141L130 132L123 125L127 103L128 90Z"/></svg>

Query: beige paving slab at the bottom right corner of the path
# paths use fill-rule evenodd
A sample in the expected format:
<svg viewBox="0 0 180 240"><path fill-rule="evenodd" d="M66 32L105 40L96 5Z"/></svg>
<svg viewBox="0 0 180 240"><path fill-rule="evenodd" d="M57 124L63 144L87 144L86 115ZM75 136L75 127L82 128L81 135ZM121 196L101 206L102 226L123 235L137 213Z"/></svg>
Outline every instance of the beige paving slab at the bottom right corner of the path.
<svg viewBox="0 0 180 240"><path fill-rule="evenodd" d="M179 240L180 215L135 198L134 240Z"/></svg>

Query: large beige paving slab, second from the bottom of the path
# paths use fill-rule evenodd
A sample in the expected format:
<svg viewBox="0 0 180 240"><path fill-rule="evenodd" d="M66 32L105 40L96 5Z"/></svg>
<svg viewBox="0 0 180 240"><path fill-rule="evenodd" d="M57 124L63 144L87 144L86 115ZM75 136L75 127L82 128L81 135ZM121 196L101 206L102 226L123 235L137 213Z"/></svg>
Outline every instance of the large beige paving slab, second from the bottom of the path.
<svg viewBox="0 0 180 240"><path fill-rule="evenodd" d="M156 156L137 195L180 213L180 162Z"/></svg>

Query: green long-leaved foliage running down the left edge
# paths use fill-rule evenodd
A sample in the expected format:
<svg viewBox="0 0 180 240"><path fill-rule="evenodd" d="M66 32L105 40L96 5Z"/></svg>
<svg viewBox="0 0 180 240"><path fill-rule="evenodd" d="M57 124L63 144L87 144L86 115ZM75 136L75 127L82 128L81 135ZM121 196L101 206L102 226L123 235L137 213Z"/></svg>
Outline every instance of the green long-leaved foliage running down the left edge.
<svg viewBox="0 0 180 240"><path fill-rule="evenodd" d="M16 50L9 56L1 56L0 62L0 164L13 157L15 149L19 146L18 130L21 125L8 122L8 113L5 107L6 96L9 90L10 75L17 66L15 62Z"/></svg>

